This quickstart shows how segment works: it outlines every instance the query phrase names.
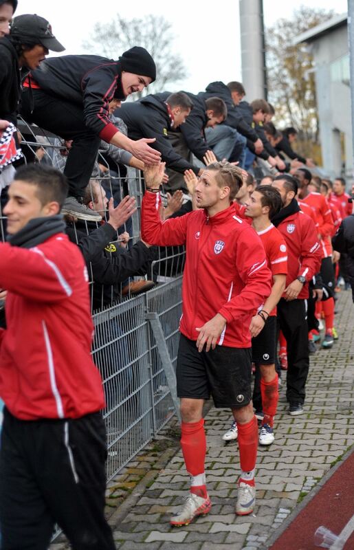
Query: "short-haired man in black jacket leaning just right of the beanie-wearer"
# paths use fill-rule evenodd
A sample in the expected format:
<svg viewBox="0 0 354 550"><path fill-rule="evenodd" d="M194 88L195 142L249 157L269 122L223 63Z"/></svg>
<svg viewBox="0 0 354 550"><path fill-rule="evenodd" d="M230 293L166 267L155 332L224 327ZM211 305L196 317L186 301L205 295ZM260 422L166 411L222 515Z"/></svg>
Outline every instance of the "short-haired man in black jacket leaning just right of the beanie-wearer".
<svg viewBox="0 0 354 550"><path fill-rule="evenodd" d="M122 104L115 115L122 118L128 127L128 135L132 140L142 137L155 137L153 148L161 153L166 167L184 174L193 170L199 175L200 168L181 157L168 139L168 131L176 130L186 122L193 107L192 100L183 91L170 94L166 100L151 94L135 102ZM168 185L165 185L168 189Z"/></svg>

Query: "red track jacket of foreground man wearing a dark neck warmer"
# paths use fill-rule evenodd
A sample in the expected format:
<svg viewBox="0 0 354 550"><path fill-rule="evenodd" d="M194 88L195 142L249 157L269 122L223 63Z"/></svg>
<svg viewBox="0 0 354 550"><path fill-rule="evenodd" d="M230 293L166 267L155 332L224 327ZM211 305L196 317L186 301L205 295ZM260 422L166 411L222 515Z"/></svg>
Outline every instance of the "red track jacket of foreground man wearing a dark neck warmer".
<svg viewBox="0 0 354 550"><path fill-rule="evenodd" d="M18 419L79 418L104 407L90 349L93 325L80 250L65 234L25 249L0 244L7 329L0 395Z"/></svg>

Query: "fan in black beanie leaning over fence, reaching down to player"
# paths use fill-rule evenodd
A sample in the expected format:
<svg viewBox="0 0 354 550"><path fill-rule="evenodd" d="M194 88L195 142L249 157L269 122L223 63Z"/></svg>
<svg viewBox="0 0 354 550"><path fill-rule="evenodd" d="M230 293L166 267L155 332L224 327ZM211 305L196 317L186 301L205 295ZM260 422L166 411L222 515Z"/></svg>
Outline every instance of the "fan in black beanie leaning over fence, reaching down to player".
<svg viewBox="0 0 354 550"><path fill-rule="evenodd" d="M133 47L118 61L100 56L62 56L47 59L25 80L21 113L28 122L73 140L64 173L69 180L65 214L100 221L100 214L82 203L101 139L126 149L144 163L159 161L148 146L134 142L109 119L109 102L142 91L156 78L155 62L143 47Z"/></svg>

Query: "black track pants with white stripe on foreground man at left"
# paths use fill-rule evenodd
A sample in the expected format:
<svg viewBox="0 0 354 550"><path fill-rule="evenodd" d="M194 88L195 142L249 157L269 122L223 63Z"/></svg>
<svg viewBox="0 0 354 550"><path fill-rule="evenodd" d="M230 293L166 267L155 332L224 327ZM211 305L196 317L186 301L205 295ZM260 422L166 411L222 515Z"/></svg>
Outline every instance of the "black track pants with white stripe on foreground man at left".
<svg viewBox="0 0 354 550"><path fill-rule="evenodd" d="M47 550L54 522L74 550L114 550L104 518L106 431L99 412L25 421L4 410L1 550Z"/></svg>

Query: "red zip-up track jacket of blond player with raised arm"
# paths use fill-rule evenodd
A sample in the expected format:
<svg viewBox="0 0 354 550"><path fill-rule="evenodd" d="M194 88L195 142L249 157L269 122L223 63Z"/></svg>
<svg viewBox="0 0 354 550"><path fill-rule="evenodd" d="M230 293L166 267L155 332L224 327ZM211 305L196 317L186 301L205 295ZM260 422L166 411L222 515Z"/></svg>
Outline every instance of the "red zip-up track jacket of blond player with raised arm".
<svg viewBox="0 0 354 550"><path fill-rule="evenodd" d="M261 239L233 205L212 217L195 210L162 223L158 202L157 193L145 193L142 239L160 246L186 244L181 333L197 340L196 327L219 313L227 324L218 344L250 347L251 318L272 283Z"/></svg>

